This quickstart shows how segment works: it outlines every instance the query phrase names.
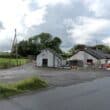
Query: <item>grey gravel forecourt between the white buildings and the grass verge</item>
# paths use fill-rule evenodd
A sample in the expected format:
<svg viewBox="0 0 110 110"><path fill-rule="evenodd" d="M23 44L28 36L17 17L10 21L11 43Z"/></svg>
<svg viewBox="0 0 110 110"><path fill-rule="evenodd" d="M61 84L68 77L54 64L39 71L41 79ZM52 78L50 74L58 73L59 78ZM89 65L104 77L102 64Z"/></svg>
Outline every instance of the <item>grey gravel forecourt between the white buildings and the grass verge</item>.
<svg viewBox="0 0 110 110"><path fill-rule="evenodd" d="M110 76L109 71L67 70L52 68L35 68L33 64L26 64L6 70L0 70L0 82L10 83L25 79L30 76L38 76L48 82L50 86L67 86L96 78Z"/></svg>

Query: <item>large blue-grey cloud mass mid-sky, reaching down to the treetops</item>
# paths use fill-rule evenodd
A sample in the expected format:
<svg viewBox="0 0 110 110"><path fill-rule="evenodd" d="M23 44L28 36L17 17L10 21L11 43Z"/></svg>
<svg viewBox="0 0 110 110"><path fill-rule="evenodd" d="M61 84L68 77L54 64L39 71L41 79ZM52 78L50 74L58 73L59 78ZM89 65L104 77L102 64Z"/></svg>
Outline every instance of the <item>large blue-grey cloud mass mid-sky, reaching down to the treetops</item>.
<svg viewBox="0 0 110 110"><path fill-rule="evenodd" d="M56 5L47 7L48 14L45 16L46 23L40 26L33 26L28 29L28 35L38 34L40 32L49 32L53 36L59 36L62 41L62 48L69 49L74 45L74 41L68 37L67 27L64 24L65 19L77 19L79 16L93 16L92 12L79 1L70 5ZM68 27L69 28L69 27Z"/></svg>

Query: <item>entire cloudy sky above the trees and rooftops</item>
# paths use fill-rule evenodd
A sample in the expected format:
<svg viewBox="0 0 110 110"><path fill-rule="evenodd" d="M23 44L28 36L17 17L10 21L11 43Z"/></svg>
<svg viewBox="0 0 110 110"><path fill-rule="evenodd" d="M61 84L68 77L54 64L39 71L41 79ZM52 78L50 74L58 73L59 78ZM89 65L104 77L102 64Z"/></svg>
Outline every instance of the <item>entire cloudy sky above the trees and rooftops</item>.
<svg viewBox="0 0 110 110"><path fill-rule="evenodd" d="M11 49L14 28L20 40L49 32L62 49L77 43L110 45L110 0L0 0L0 51Z"/></svg>

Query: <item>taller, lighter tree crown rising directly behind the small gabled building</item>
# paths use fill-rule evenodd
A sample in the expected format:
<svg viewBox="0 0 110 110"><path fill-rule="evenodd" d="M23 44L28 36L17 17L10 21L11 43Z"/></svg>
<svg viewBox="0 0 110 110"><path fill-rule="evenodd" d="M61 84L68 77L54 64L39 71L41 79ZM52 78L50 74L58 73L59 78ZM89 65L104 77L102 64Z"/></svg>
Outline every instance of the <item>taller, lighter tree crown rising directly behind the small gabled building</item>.
<svg viewBox="0 0 110 110"><path fill-rule="evenodd" d="M39 47L39 50L50 48L55 50L57 53L61 53L60 45L62 43L59 37L54 37L49 33L41 33L31 38L33 42Z"/></svg>

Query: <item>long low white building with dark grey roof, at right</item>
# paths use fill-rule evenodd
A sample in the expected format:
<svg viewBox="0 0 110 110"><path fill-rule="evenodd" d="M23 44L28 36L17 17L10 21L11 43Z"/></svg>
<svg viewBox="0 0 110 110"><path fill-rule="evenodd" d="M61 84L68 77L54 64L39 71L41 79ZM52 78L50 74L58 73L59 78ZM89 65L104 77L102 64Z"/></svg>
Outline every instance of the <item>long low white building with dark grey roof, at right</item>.
<svg viewBox="0 0 110 110"><path fill-rule="evenodd" d="M68 59L70 65L102 65L106 64L110 59L110 54L105 54L100 50L94 50L91 48L85 48L79 50L71 58Z"/></svg>

